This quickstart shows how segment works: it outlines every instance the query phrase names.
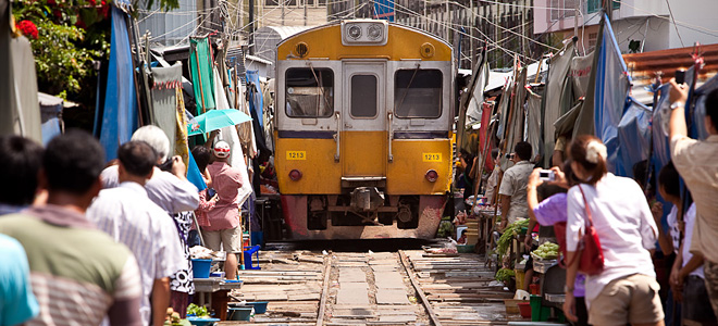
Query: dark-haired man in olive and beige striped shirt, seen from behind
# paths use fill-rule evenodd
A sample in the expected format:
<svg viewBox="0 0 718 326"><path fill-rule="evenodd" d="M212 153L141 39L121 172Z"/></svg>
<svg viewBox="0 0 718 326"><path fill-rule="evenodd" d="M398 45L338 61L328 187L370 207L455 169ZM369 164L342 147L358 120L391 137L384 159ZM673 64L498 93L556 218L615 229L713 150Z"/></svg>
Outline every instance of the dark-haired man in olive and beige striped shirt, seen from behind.
<svg viewBox="0 0 718 326"><path fill-rule="evenodd" d="M40 314L26 325L139 326L139 271L132 252L98 230L85 211L101 189L104 152L70 130L48 143L40 180L47 204L0 218L0 233L27 252Z"/></svg>

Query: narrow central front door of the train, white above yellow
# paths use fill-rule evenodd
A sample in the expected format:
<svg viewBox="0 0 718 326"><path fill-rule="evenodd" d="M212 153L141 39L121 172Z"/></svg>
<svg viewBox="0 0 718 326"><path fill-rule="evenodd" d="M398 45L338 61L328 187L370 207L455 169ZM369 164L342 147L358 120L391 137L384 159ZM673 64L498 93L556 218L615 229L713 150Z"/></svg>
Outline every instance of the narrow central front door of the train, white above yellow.
<svg viewBox="0 0 718 326"><path fill-rule="evenodd" d="M386 62L344 62L341 147L344 180L384 180Z"/></svg>

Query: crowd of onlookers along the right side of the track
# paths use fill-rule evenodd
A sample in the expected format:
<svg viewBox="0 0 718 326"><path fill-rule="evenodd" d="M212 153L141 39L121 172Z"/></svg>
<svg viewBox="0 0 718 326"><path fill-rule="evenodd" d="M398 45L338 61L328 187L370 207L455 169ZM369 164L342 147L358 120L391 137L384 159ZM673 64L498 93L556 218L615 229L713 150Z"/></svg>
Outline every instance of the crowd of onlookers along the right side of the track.
<svg viewBox="0 0 718 326"><path fill-rule="evenodd" d="M671 80L669 100L671 162L655 178L660 198L671 205L666 229L664 206L645 188L647 167L635 180L609 173L607 148L593 136L557 138L552 166L545 166L554 180L540 177L544 167L541 160L531 162L527 142L509 152L513 165L503 177L500 167L487 177L485 193L499 195L488 200L500 206L499 231L517 218L530 218L529 230L540 235L547 226L566 224L565 235L552 229L549 237L565 237L559 240L567 251L564 313L575 325L718 325L718 90L706 97L706 117L698 122L708 130L705 140L688 137L688 87ZM492 152L498 166L497 158ZM681 179L689 196L681 190ZM601 273L585 275L579 265L591 228L599 239L604 265ZM533 237L527 236L527 248L535 249L533 244ZM659 290L657 275L666 273L654 265L658 261L669 264L661 281L667 291ZM531 265L529 259L524 290L532 279Z"/></svg>

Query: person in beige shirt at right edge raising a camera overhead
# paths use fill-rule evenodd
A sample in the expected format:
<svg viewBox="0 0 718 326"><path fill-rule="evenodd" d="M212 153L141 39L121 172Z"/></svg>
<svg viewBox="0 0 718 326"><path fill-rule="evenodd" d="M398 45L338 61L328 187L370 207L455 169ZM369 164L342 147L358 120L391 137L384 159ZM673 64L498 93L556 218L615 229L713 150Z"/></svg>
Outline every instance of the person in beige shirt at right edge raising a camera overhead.
<svg viewBox="0 0 718 326"><path fill-rule="evenodd" d="M679 80L682 82L682 80ZM706 97L703 123L705 140L688 136L685 102L688 86L670 80L670 154L678 173L696 205L696 220L690 251L705 259L703 271L713 311L718 315L718 89Z"/></svg>

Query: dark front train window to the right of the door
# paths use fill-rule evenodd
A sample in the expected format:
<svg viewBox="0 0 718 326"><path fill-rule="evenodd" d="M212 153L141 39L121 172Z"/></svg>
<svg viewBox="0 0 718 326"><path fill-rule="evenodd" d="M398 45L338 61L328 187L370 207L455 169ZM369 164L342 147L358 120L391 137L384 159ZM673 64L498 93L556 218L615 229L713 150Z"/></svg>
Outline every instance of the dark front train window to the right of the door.
<svg viewBox="0 0 718 326"><path fill-rule="evenodd" d="M400 70L394 75L394 113L397 117L442 115L442 72Z"/></svg>

